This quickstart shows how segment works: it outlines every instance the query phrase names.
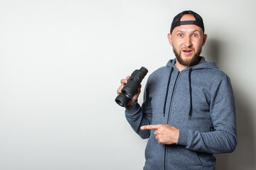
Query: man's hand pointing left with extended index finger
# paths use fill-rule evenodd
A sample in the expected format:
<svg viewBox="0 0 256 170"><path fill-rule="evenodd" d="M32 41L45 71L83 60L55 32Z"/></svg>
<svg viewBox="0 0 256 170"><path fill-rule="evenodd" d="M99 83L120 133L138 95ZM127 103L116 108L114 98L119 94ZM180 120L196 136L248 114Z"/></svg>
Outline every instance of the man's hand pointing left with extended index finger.
<svg viewBox="0 0 256 170"><path fill-rule="evenodd" d="M144 125L141 130L155 130L154 135L160 144L172 145L178 142L179 130L171 125Z"/></svg>

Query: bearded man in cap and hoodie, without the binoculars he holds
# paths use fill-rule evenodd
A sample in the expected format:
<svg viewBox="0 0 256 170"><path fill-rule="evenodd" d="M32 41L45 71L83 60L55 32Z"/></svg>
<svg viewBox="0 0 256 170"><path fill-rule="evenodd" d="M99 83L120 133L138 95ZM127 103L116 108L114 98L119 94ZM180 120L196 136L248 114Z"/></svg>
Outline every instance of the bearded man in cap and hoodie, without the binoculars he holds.
<svg viewBox="0 0 256 170"><path fill-rule="evenodd" d="M238 142L230 79L199 56L207 35L197 13L175 16L168 39L176 59L149 76L142 107L138 89L125 110L134 131L149 138L144 169L215 169L213 154L233 152Z"/></svg>

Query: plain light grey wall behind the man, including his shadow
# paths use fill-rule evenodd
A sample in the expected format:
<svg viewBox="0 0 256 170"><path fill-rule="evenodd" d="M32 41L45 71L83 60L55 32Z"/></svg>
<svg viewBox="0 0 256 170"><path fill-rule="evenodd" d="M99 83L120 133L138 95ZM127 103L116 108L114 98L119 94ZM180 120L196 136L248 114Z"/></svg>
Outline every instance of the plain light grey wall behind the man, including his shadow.
<svg viewBox="0 0 256 170"><path fill-rule="evenodd" d="M116 90L134 69L150 74L174 58L167 33L186 9L203 17L202 55L230 76L235 93L239 143L217 155L217 169L255 169L255 7L254 0L1 0L0 169L142 169L146 140L114 103Z"/></svg>

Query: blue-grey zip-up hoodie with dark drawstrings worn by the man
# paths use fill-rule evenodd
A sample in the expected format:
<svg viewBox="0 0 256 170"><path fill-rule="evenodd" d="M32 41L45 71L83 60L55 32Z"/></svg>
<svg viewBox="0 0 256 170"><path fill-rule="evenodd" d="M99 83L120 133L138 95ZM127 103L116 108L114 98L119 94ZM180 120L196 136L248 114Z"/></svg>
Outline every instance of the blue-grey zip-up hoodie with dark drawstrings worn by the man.
<svg viewBox="0 0 256 170"><path fill-rule="evenodd" d="M149 138L144 169L215 169L213 154L233 152L238 142L230 79L204 57L181 72L175 63L149 76L142 107L134 103L125 110L133 130ZM140 130L158 124L178 128L176 145L161 145L154 130Z"/></svg>

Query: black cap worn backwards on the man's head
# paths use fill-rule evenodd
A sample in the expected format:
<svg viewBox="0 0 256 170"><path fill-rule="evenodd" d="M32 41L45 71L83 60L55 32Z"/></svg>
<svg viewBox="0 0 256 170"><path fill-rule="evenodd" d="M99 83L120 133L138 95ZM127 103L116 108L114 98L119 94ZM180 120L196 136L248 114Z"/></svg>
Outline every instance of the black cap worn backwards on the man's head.
<svg viewBox="0 0 256 170"><path fill-rule="evenodd" d="M184 14L193 15L196 18L196 21L181 21L181 17ZM177 26L181 26L181 25L196 25L196 26L202 28L203 33L204 33L203 18L201 18L201 16L199 16L198 13L195 13L194 11L183 11L181 13L178 13L178 15L176 15L174 17L174 20L171 23L170 33L174 30L174 28L176 28Z"/></svg>

